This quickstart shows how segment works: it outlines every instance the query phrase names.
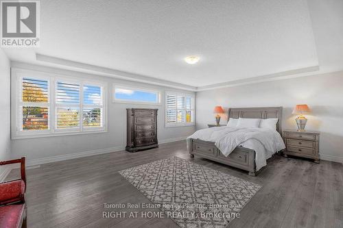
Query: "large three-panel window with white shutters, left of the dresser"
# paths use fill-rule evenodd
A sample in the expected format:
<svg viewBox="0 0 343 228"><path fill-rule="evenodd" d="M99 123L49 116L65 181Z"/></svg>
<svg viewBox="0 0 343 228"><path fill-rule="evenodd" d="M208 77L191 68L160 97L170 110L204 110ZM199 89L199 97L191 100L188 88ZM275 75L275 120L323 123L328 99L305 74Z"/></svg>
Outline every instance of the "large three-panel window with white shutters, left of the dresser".
<svg viewBox="0 0 343 228"><path fill-rule="evenodd" d="M13 68L12 91L12 138L106 131L106 84L99 81Z"/></svg>

